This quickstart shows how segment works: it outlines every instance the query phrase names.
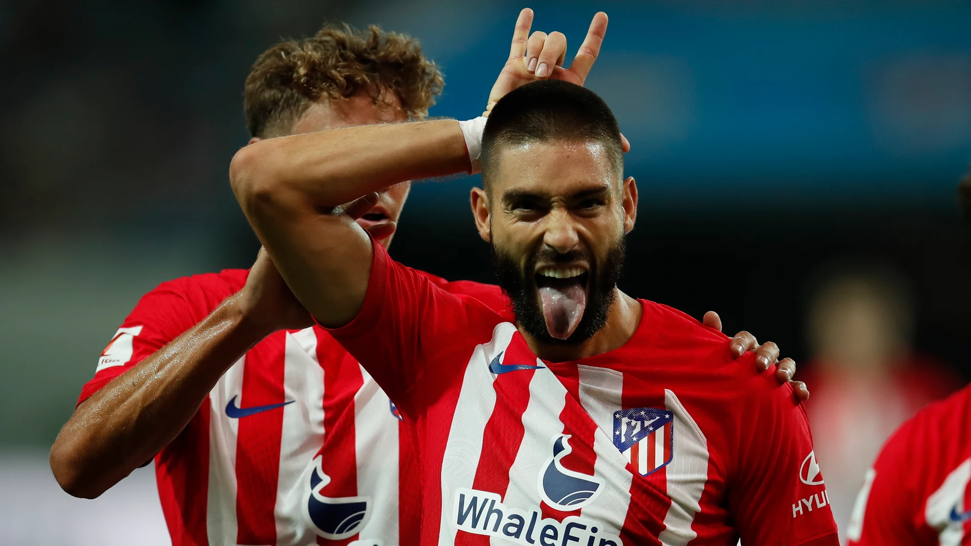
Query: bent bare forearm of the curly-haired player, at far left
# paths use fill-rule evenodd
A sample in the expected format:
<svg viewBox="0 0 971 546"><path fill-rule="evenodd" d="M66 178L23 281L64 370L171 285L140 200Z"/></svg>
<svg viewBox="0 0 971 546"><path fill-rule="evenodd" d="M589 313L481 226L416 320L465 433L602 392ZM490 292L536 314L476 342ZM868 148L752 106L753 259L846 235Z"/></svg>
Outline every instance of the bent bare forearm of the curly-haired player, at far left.
<svg viewBox="0 0 971 546"><path fill-rule="evenodd" d="M101 495L182 432L219 377L265 335L242 318L237 298L75 410L50 450L65 491Z"/></svg>

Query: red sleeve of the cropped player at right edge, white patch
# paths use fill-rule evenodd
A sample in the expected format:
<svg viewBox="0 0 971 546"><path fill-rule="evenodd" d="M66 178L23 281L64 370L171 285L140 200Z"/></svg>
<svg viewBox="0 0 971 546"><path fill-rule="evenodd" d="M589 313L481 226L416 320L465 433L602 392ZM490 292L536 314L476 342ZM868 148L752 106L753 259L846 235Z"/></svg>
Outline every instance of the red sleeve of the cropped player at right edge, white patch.
<svg viewBox="0 0 971 546"><path fill-rule="evenodd" d="M854 546L916 546L937 544L931 532L923 532L921 499L914 479L913 422L890 436L867 474L854 503L847 527Z"/></svg>

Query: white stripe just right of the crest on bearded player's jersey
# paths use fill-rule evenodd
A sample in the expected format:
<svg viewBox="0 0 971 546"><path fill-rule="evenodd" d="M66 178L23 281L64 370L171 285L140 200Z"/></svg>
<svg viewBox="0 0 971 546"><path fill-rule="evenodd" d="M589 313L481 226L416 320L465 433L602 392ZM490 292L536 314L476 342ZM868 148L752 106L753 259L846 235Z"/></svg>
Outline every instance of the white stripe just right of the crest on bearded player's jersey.
<svg viewBox="0 0 971 546"><path fill-rule="evenodd" d="M691 530L694 515L701 511L701 494L708 481L708 440L685 406L670 389L664 389L664 406L674 414L674 458L666 468L671 507L664 517L665 529L657 535L662 544L685 546L697 536ZM657 434L660 436L660 434ZM663 444L657 448L663 463Z"/></svg>

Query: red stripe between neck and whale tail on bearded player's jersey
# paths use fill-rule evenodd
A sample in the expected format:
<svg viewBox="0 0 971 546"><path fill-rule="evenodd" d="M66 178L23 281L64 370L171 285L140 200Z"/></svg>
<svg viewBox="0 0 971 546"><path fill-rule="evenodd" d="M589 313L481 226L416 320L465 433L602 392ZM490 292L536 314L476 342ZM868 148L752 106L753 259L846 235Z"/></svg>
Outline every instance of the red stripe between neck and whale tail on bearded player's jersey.
<svg viewBox="0 0 971 546"><path fill-rule="evenodd" d="M560 464L568 470L593 475L593 465L597 461L597 455L593 451L593 436L597 426L580 404L580 374L576 365L558 370L556 377L566 388L566 403L559 413L559 420L563 423L563 434L570 434L568 441L572 448L570 454L560 460ZM580 516L580 510L563 512L553 509L545 501L540 506L544 518L561 522L569 516Z"/></svg>

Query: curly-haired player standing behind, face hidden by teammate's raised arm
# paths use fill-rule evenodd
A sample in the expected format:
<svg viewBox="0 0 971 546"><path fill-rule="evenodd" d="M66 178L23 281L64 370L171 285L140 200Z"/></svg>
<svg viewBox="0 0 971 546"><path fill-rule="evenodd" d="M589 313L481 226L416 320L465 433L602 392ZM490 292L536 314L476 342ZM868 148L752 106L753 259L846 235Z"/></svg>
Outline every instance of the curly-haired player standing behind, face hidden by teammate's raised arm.
<svg viewBox="0 0 971 546"><path fill-rule="evenodd" d="M533 36L529 56L555 62L565 44L547 50L545 36ZM423 116L441 86L415 40L327 27L260 56L247 121L252 142L404 121ZM408 189L392 185L376 205L351 210L358 225L388 245ZM507 304L496 287L428 277L498 310ZM51 450L54 475L93 498L157 454L175 546L417 543L409 436L374 380L310 325L265 252L250 272L162 283L98 360ZM755 344L735 342L737 354ZM778 355L772 344L755 348L766 365ZM794 367L784 363L783 379Z"/></svg>

